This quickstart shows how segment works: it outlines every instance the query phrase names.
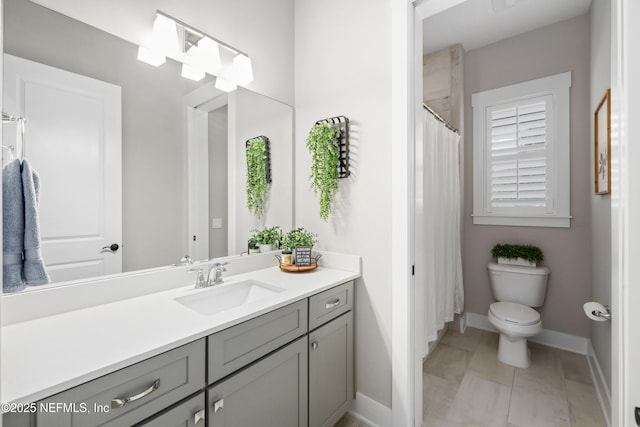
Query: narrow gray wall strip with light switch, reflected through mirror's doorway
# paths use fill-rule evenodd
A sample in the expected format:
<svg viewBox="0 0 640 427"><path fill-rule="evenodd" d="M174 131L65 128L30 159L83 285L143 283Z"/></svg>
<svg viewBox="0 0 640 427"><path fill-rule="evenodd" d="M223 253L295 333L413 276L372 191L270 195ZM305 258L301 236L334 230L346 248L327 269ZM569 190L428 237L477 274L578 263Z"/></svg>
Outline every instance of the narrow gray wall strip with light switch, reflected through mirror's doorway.
<svg viewBox="0 0 640 427"><path fill-rule="evenodd" d="M229 254L228 116L226 105L209 113L209 258ZM213 218L222 219L222 228L211 228Z"/></svg>

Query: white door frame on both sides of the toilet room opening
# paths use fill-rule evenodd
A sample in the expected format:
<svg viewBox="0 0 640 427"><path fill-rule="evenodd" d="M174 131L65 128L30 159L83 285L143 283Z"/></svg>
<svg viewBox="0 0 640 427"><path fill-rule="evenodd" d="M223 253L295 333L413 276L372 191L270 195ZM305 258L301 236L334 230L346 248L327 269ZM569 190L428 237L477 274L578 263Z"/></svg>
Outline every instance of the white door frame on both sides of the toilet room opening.
<svg viewBox="0 0 640 427"><path fill-rule="evenodd" d="M422 425L422 361L418 354L417 332L424 303L415 300L415 280L411 267L415 262L414 218L414 149L421 137L422 93L422 21L466 0L390 0L392 47L392 123L394 150L392 170L392 425ZM640 357L640 338L630 334L630 325L640 323L640 313L631 310L640 305L640 268L629 261L636 259L638 248L629 246L632 237L640 239L640 226L630 221L630 210L640 212L640 196L629 191L631 182L640 180L640 150L629 144L632 136L640 139L637 123L631 114L640 114L638 87L630 76L640 73L637 56L631 55L630 40L640 37L637 26L640 6L635 0L611 0L611 88L612 120L619 132L612 132L612 425L632 426L633 408L640 404L640 367L630 360ZM635 18L635 21L634 21ZM636 97L631 95L633 92ZM617 162L615 161L617 160ZM636 160L634 162L634 160ZM635 181L633 180L635 179ZM614 179L614 181L616 181ZM636 244L636 246L638 246ZM635 250L634 250L635 249ZM635 258L632 256L635 255ZM637 263L636 263L637 264ZM633 339L633 341L630 341ZM631 376L633 375L633 376ZM635 403L634 400L635 399ZM626 415L626 416L625 416Z"/></svg>

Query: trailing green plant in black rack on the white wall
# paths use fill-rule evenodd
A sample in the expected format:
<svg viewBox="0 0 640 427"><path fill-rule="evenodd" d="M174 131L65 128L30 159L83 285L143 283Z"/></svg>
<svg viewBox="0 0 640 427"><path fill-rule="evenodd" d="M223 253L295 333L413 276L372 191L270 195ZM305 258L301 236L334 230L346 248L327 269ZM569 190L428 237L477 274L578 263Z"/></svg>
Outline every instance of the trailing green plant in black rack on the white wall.
<svg viewBox="0 0 640 427"><path fill-rule="evenodd" d="M307 136L311 153L311 188L320 195L320 217L328 220L333 196L338 191L340 128L328 122L317 123Z"/></svg>

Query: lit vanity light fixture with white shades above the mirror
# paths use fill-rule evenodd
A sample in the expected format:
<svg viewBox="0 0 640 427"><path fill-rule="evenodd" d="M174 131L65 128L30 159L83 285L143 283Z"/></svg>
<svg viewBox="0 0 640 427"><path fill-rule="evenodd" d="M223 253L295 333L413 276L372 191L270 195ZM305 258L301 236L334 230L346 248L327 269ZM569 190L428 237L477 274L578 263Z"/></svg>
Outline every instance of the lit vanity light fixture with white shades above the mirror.
<svg viewBox="0 0 640 427"><path fill-rule="evenodd" d="M221 55L221 47L228 54ZM156 11L153 32L149 41L138 48L138 59L157 67L167 56L182 63L183 77L198 81L210 74L216 77L216 88L225 92L253 81L253 68L247 54ZM231 63L223 64L223 58Z"/></svg>

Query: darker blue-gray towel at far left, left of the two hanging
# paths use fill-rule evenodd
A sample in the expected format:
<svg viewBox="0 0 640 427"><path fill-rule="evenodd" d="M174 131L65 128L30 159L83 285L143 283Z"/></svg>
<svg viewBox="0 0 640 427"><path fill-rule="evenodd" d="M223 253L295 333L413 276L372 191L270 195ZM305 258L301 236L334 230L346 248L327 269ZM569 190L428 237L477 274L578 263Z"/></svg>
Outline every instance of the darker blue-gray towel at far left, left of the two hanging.
<svg viewBox="0 0 640 427"><path fill-rule="evenodd" d="M25 288L22 281L24 250L24 195L20 160L2 169L2 290L17 292Z"/></svg>

